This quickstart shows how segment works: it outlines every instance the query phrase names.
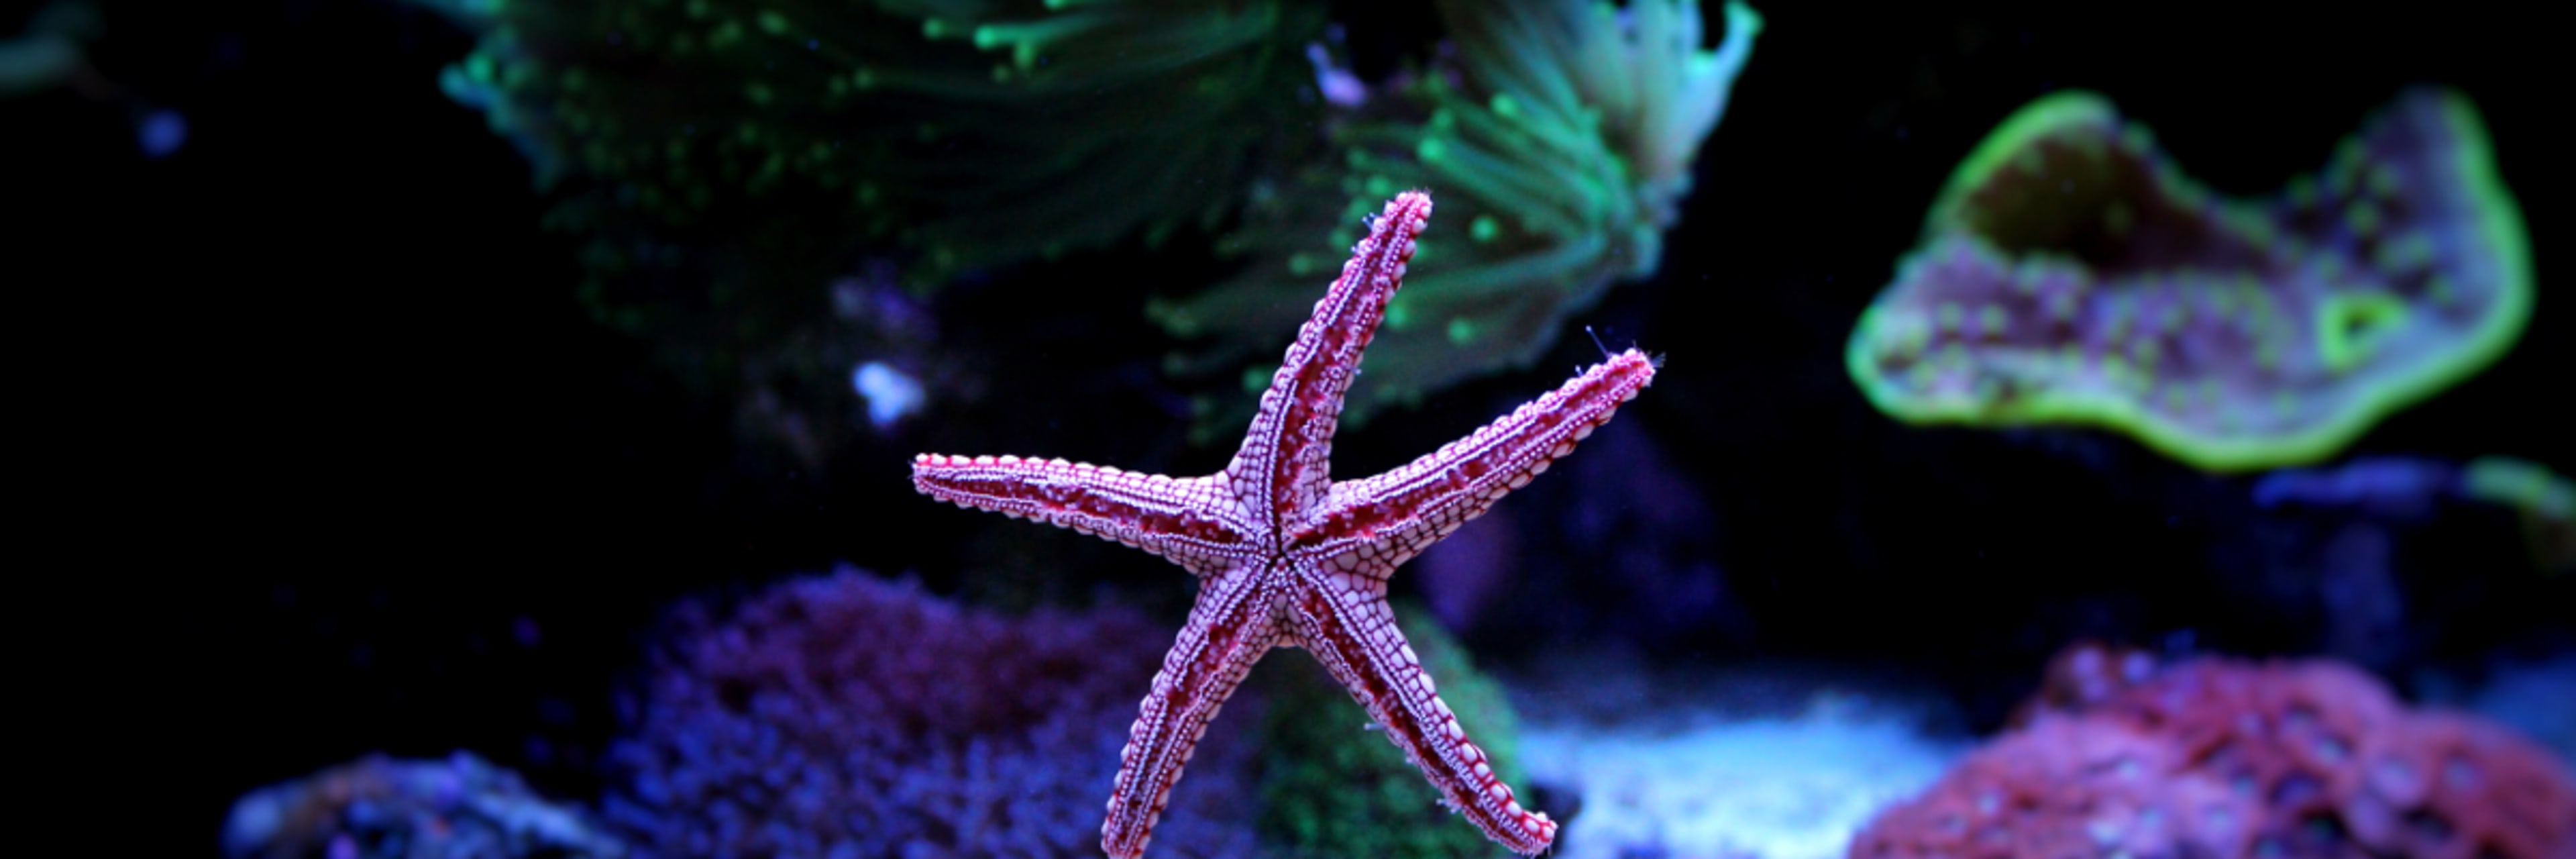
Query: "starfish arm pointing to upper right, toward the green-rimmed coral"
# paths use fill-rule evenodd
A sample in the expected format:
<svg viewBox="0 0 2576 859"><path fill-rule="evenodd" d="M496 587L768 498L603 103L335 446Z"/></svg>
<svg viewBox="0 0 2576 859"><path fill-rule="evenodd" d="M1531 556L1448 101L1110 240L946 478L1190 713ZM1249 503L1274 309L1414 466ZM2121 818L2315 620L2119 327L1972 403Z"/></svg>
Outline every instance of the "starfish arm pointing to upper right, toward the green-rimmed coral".
<svg viewBox="0 0 2576 859"><path fill-rule="evenodd" d="M1494 500L1548 469L1654 382L1656 361L1631 348L1566 379L1466 439L1399 469L1332 485L1288 544L1327 568L1383 580Z"/></svg>

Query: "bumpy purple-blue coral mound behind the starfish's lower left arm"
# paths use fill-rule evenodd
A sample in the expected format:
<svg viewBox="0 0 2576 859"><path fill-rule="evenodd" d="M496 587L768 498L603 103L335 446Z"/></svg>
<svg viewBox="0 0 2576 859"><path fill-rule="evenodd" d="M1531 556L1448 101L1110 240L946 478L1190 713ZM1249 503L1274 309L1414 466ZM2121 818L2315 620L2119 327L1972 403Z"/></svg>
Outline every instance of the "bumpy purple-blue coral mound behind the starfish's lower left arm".
<svg viewBox="0 0 2576 859"><path fill-rule="evenodd" d="M1167 642L1131 611L1005 617L850 568L724 619L683 606L608 815L659 856L1095 856ZM1236 764L1203 748L1162 856L1252 851Z"/></svg>

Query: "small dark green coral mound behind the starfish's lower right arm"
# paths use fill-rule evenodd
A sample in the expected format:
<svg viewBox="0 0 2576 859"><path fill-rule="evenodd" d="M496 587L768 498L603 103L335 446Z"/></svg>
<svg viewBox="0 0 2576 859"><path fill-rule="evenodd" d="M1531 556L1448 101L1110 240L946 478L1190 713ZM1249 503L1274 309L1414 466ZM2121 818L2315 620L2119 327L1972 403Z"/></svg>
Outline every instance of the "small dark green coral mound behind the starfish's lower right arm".
<svg viewBox="0 0 2576 859"><path fill-rule="evenodd" d="M1486 751L1504 784L1520 782L1520 720L1502 686L1476 673L1466 647L1414 604L1396 606L1396 627L1440 678L1440 699ZM1270 681L1262 715L1262 838L1285 856L1504 856L1458 820L1404 751L1376 730L1350 691L1314 660L1291 660Z"/></svg>

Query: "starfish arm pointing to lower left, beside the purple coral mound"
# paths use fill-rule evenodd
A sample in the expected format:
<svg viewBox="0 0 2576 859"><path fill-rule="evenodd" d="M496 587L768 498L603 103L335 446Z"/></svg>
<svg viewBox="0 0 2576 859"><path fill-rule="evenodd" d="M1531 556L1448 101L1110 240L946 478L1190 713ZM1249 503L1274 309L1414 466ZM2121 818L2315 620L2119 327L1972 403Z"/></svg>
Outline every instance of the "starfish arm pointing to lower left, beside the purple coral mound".
<svg viewBox="0 0 2576 859"><path fill-rule="evenodd" d="M1110 818L1100 825L1100 849L1118 859L1144 854L1154 820L1172 800L1180 769L1198 751L1216 709L1244 681L1252 663L1285 637L1273 617L1270 578L1260 570L1229 570L1203 578L1190 622L1180 627L1172 653L1154 673L1128 745L1118 753L1118 782L1110 789Z"/></svg>

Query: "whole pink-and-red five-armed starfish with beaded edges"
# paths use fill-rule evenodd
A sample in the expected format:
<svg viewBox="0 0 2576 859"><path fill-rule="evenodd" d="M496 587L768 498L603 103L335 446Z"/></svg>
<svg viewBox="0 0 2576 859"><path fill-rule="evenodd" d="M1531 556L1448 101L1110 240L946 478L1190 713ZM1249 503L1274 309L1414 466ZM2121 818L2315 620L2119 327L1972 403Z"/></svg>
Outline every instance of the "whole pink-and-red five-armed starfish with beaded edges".
<svg viewBox="0 0 2576 859"><path fill-rule="evenodd" d="M1556 841L1556 820L1512 800L1512 787L1440 702L1396 629L1386 580L1607 423L1654 382L1656 361L1628 348L1412 464L1332 480L1342 395L1430 214L1430 193L1406 191L1370 222L1288 346L1224 472L1164 477L1064 459L912 459L912 485L930 498L1108 537L1198 575L1190 619L1118 758L1100 828L1110 856L1144 854L1208 720L1270 647L1314 653L1486 838L1517 854Z"/></svg>

